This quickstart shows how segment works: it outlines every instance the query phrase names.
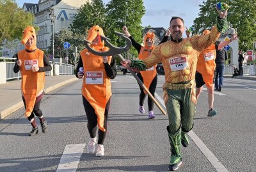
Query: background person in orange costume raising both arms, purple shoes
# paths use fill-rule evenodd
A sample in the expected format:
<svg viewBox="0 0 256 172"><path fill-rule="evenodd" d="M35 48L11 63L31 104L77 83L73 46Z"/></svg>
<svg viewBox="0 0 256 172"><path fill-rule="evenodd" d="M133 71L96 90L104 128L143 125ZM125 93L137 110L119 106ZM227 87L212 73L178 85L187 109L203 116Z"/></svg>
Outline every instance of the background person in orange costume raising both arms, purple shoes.
<svg viewBox="0 0 256 172"><path fill-rule="evenodd" d="M123 31L125 33L125 36L131 39L132 41L132 46L136 48L139 54L139 59L145 59L150 55L151 51L154 48L154 32L147 32L144 36L144 46L140 45L140 43L137 43L129 33L127 27L124 25ZM168 40L170 36L169 29L166 32L166 36L164 36L163 40L161 43L164 43ZM140 78L141 82L144 83L144 85L147 87L149 92L154 96L155 91L156 91L156 85L157 85L157 71L156 71L157 65L154 65L152 68L147 69L147 71L140 71L137 76ZM139 111L140 113L145 113L144 109L144 101L147 96L147 92L143 90L143 88L140 86L140 101L139 101ZM152 99L148 96L148 119L154 119L154 102Z"/></svg>

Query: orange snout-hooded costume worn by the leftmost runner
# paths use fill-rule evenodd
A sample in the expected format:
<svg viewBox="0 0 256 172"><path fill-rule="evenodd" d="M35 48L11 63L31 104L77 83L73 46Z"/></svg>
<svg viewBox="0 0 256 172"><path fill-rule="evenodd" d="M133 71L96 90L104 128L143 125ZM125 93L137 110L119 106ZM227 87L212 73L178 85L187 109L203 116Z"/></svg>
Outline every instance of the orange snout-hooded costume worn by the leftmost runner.
<svg viewBox="0 0 256 172"><path fill-rule="evenodd" d="M36 33L34 27L26 27L22 35L22 43L26 43L33 36L34 44L31 47L25 46L26 50L32 51L36 49ZM33 53L21 50L18 53L18 59L22 62L20 73L22 76L21 90L22 96L26 101L26 117L29 117L35 106L36 97L44 92L45 73L31 71L32 66L44 67L44 52L36 49Z"/></svg>

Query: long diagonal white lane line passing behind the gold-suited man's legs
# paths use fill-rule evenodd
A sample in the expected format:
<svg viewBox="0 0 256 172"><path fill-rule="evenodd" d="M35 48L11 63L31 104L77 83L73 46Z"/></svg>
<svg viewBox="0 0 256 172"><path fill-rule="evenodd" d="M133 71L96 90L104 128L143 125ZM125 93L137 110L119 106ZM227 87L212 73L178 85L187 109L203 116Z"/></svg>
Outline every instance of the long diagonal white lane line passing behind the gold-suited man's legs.
<svg viewBox="0 0 256 172"><path fill-rule="evenodd" d="M220 92L218 92L220 93ZM165 107L163 99L155 92L155 97L157 100ZM205 155L205 157L208 159L209 162L211 162L212 166L216 169L218 172L228 172L228 170L221 164L221 162L217 159L217 157L212 154L212 152L209 150L209 148L206 147L204 142L196 136L196 134L191 130L188 133L191 140L194 141L196 146L201 150L201 152Z"/></svg>

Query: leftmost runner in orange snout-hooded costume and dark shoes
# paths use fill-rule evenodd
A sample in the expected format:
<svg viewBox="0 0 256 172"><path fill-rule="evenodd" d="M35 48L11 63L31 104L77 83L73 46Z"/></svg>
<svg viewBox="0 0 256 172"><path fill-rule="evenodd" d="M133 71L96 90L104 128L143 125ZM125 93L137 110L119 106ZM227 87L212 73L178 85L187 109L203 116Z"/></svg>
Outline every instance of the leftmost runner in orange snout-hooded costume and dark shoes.
<svg viewBox="0 0 256 172"><path fill-rule="evenodd" d="M42 110L40 110L40 103L44 95L45 71L51 71L52 67L44 52L36 48L34 27L28 26L24 29L21 43L25 44L25 49L18 52L13 71L21 73L20 88L26 109L25 116L33 127L29 136L35 136L38 134L35 115L40 120L42 132L45 133L48 129Z"/></svg>

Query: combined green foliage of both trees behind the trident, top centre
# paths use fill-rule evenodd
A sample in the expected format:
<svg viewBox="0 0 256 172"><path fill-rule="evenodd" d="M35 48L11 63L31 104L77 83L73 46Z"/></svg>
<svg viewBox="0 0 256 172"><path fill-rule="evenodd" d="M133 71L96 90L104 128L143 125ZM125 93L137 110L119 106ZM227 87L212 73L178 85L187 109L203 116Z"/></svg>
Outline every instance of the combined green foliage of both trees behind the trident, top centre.
<svg viewBox="0 0 256 172"><path fill-rule="evenodd" d="M104 34L111 39L111 43L117 47L124 47L125 42L116 36L115 31L122 32L122 27L127 25L132 37L138 42L141 39L141 18L145 14L145 7L142 0L112 0L108 4L102 0L95 0L93 3L86 3L79 8L76 19L71 25L71 31L84 33L93 25L99 25L104 30ZM132 49L130 55L138 55ZM116 63L119 59L116 58Z"/></svg>

